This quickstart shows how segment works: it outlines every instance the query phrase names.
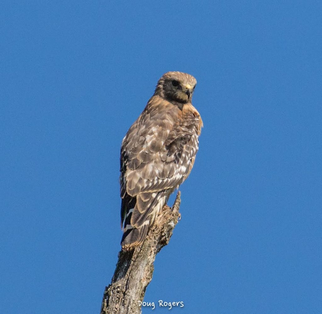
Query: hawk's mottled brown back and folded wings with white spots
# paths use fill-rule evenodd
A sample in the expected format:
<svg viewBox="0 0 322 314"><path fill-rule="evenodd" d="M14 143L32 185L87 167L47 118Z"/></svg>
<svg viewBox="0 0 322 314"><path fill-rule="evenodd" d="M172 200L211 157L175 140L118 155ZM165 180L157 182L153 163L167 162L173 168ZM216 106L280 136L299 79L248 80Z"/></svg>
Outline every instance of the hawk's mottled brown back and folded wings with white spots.
<svg viewBox="0 0 322 314"><path fill-rule="evenodd" d="M198 150L200 118L191 114L183 120L182 113L178 116L175 110L179 109L146 109L123 139L121 224L136 205L130 222L137 228L141 226L156 200L165 199L161 191L175 189L191 171Z"/></svg>

